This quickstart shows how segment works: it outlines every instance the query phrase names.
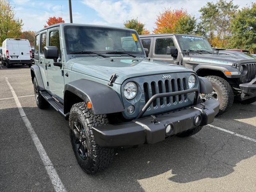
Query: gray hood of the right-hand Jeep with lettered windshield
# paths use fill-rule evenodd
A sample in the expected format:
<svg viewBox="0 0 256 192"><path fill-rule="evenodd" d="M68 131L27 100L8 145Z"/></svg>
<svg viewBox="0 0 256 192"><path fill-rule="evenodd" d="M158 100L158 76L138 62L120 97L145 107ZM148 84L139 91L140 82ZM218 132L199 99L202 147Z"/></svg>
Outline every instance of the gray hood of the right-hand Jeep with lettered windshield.
<svg viewBox="0 0 256 192"><path fill-rule="evenodd" d="M218 54L190 54L184 56L185 62L221 64L232 66L234 63L255 62L254 59L242 59L238 56L218 55Z"/></svg>

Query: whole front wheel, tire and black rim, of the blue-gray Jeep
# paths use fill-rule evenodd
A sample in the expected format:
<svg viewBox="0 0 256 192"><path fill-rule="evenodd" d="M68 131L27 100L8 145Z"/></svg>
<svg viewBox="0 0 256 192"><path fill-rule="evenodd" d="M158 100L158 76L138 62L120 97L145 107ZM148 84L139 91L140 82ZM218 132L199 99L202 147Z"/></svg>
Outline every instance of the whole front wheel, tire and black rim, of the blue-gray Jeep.
<svg viewBox="0 0 256 192"><path fill-rule="evenodd" d="M74 104L70 110L69 130L72 148L79 166L87 174L95 174L108 168L114 157L114 149L99 146L92 132L92 126L106 124L106 115L90 114L85 102Z"/></svg>

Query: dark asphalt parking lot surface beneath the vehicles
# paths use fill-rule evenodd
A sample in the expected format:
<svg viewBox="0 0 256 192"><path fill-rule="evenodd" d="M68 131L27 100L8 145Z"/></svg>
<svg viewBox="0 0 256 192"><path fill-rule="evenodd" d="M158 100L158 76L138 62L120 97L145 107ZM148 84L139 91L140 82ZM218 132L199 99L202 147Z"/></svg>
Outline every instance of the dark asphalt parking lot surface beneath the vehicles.
<svg viewBox="0 0 256 192"><path fill-rule="evenodd" d="M7 81L66 191L256 191L256 102L234 104L190 138L117 149L110 168L90 176L76 163L68 121L37 108L30 68L2 64L0 191L54 191Z"/></svg>

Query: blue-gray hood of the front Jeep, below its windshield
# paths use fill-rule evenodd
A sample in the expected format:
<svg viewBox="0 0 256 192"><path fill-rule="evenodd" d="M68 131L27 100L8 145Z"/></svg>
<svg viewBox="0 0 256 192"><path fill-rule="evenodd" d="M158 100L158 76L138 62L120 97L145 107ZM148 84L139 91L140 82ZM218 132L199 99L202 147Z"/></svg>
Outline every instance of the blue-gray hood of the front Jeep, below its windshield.
<svg viewBox="0 0 256 192"><path fill-rule="evenodd" d="M112 61L113 60L113 61ZM122 84L124 80L137 76L153 74L171 74L175 72L193 72L178 65L166 65L162 62L151 62L147 58L75 58L72 62L72 71L93 76L106 81L112 74L118 77L115 83Z"/></svg>

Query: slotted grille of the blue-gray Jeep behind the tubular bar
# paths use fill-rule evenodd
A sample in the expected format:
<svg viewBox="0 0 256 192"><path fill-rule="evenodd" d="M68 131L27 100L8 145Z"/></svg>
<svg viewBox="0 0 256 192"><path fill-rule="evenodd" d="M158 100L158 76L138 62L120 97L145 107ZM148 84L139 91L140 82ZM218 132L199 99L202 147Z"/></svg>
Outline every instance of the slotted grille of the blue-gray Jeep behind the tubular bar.
<svg viewBox="0 0 256 192"><path fill-rule="evenodd" d="M186 90L187 87L188 85L187 85L186 78L159 80L158 82L154 82L154 81L145 82L143 84L145 104L153 95L157 93L168 93L168 92ZM187 98L186 94L157 98L151 104L150 108L156 108L156 107L162 108L165 106L176 105L180 102L187 102L186 98Z"/></svg>

